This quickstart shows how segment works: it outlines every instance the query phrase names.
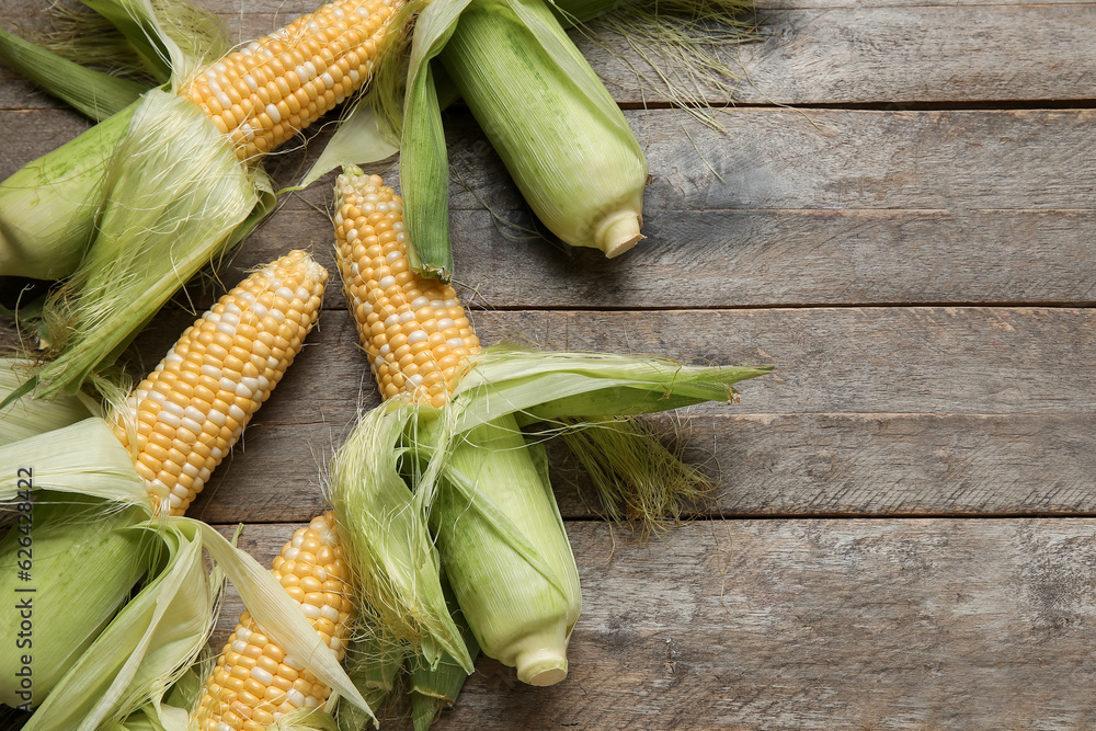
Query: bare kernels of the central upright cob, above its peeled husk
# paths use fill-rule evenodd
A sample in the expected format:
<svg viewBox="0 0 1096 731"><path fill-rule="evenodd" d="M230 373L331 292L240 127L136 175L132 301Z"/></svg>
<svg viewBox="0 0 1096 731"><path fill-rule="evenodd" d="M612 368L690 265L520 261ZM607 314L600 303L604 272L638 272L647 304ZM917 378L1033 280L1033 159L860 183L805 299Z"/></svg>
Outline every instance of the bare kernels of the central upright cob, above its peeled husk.
<svg viewBox="0 0 1096 731"><path fill-rule="evenodd" d="M407 258L403 201L379 175L340 175L335 248L346 298L380 395L441 408L479 339L452 286Z"/></svg>

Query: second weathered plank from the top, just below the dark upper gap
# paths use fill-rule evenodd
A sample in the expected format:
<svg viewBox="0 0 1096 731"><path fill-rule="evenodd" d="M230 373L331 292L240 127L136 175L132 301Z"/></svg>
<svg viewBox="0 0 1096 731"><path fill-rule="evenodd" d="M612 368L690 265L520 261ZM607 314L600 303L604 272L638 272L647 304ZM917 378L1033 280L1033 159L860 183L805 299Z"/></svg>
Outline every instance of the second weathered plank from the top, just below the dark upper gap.
<svg viewBox="0 0 1096 731"><path fill-rule="evenodd" d="M1093 209L1094 110L739 108L721 113L726 134L674 111L626 116L654 179L644 197L649 221L663 212ZM0 121L19 133L2 175L81 128L59 111L4 112ZM471 117L448 114L446 125L452 208L524 209ZM278 156L282 182L298 179L321 147ZM317 184L286 206L322 209L329 196Z"/></svg>

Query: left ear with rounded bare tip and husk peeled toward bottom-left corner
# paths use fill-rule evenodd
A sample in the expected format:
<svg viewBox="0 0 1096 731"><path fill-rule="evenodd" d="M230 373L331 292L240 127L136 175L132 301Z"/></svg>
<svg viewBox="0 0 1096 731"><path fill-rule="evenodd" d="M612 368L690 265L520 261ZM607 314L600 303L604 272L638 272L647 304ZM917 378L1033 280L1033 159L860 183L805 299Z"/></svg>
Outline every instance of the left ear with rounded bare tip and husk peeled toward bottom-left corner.
<svg viewBox="0 0 1096 731"><path fill-rule="evenodd" d="M165 505L161 507L159 500L150 500L162 496L155 488L175 494L175 486L167 484L167 476L176 471L179 465L186 470L193 456L190 444L203 465L195 471L204 479L203 470L216 466L231 442L239 437L247 419L266 399L299 352L318 315L326 276L322 267L302 252L294 252L259 270L184 333L149 379L135 390L121 410L116 425L104 419L88 418L0 447L0 465L7 465L4 476L18 475L19 467L30 466L36 490L47 487L64 490L69 494L58 498L62 501L87 500L79 496L82 494L96 495L100 498L96 509L105 515L101 519L114 519L110 523L112 530L103 534L105 537L90 534L99 542L113 541L114 547L102 551L106 555L99 556L98 561L89 561L93 570L81 574L89 581L94 579L93 584L102 595L81 596L89 603L89 610L69 609L67 626L56 632L58 641L65 642L58 651L71 653L75 662L66 664L68 655L39 658L44 666L64 669L65 674L55 687L35 686L42 695L30 705L37 705L43 698L45 703L32 717L28 728L91 729L106 720L118 721L140 707L159 706L172 681L204 643L213 620L210 602L216 592L210 587L219 584L219 574L207 578L203 550L232 580L249 606L254 607L255 621L270 637L302 658L317 678L365 706L330 649L319 642L300 607L269 573L208 526L169 517ZM9 378L9 386L14 380ZM60 411L71 406L71 401L76 399L50 408ZM21 401L16 401L14 408L20 406ZM45 407L32 403L30 408ZM173 413L175 409L180 415ZM129 415L125 418L127 412ZM62 414L60 421L70 418L75 416ZM161 429L167 426L173 429ZM161 453L153 449L156 439L145 438L156 435L172 439ZM134 447L133 455L119 438ZM142 456L157 454L158 462L141 460ZM172 459L176 461L170 462ZM145 479L135 464L162 465L161 473ZM169 464L176 467L169 468ZM185 471L180 473L185 476ZM23 499L20 492L24 487L15 480L10 486L4 482L0 498L9 504L16 503ZM194 488L189 483L189 490ZM12 506L26 507L34 516L33 504ZM46 537L56 538L59 547L54 551L56 556L64 557L66 551L91 540L88 526L67 521L64 514L54 516L46 512L38 517L41 524L35 524L35 528L45 532ZM153 519L146 521L147 517ZM16 534L11 536L18 539ZM134 537L144 537L145 542L125 542ZM39 546L37 535L34 541ZM94 546L98 544L93 542ZM45 561L39 568L43 576L65 573L52 571ZM14 576L14 570L9 574ZM125 603L138 579L138 593ZM71 591L62 582L54 593L56 601L52 606L69 607L67 594L80 592ZM122 604L124 608L111 618ZM304 631L306 628L308 632ZM92 640L96 644L81 652ZM96 651L96 647L106 651ZM89 683L85 674L100 679ZM16 690L0 681L0 693Z"/></svg>

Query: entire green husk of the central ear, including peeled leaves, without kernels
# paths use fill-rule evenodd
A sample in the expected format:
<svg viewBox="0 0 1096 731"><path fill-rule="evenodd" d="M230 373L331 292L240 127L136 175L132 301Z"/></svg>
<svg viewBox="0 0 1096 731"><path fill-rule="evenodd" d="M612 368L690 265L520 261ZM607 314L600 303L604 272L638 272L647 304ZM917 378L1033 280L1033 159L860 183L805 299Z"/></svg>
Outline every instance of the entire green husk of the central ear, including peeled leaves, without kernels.
<svg viewBox="0 0 1096 731"><path fill-rule="evenodd" d="M436 669L444 648L468 671L439 604L444 567L484 654L526 682L562 679L578 574L547 460L518 424L732 400L734 382L767 372L496 347L476 358L444 409L389 401L366 414L332 460L331 494L355 580L385 631L421 647L424 667Z"/></svg>

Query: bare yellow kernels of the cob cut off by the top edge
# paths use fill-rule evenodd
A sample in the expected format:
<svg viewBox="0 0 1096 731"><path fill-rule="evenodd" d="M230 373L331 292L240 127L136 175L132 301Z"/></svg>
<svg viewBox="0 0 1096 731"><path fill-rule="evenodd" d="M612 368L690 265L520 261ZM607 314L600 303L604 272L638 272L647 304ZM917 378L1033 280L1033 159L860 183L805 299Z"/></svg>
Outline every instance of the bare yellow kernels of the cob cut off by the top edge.
<svg viewBox="0 0 1096 731"><path fill-rule="evenodd" d="M282 145L373 73L393 0L342 0L302 15L202 71L180 95L229 135L240 160Z"/></svg>

